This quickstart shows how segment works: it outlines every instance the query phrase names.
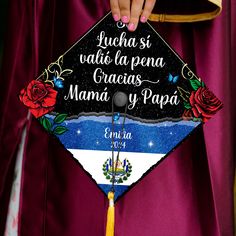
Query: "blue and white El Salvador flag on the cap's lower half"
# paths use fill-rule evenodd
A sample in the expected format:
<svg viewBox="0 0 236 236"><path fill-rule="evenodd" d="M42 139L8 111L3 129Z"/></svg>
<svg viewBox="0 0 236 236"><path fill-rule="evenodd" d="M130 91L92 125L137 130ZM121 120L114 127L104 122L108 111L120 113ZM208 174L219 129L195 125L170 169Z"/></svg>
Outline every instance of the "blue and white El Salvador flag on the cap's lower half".
<svg viewBox="0 0 236 236"><path fill-rule="evenodd" d="M55 119L52 115L46 117L50 122ZM58 136L105 193L110 191L112 179L112 135L115 154L122 135L122 115L115 121L113 132L111 119L110 116L81 116L66 120L62 125L69 132ZM116 198L127 191L130 185L140 181L144 173L157 165L200 124L183 120L142 123L127 118L117 164Z"/></svg>

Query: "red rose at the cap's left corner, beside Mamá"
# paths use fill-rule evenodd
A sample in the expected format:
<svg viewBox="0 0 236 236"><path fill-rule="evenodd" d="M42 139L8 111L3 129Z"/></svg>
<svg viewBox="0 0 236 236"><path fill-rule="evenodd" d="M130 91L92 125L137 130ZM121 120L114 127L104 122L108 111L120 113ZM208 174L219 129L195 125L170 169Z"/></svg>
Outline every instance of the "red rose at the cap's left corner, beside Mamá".
<svg viewBox="0 0 236 236"><path fill-rule="evenodd" d="M38 118L54 109L56 96L57 91L51 85L33 80L26 89L21 90L19 98L31 113Z"/></svg>

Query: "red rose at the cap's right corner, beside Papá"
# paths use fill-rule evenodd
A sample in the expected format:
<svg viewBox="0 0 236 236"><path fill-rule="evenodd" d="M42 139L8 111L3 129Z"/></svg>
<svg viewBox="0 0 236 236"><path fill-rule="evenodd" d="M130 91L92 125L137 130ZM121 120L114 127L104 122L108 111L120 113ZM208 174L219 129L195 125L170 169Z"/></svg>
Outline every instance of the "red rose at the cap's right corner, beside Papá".
<svg viewBox="0 0 236 236"><path fill-rule="evenodd" d="M194 117L208 121L222 107L221 101L207 88L200 87L192 91L189 102Z"/></svg>

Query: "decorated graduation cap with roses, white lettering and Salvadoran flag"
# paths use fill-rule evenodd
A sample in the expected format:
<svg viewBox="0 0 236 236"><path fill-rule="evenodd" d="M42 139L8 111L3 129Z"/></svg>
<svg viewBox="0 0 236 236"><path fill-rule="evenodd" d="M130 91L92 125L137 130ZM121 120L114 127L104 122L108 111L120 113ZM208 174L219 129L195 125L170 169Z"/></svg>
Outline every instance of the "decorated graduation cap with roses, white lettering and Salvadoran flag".
<svg viewBox="0 0 236 236"><path fill-rule="evenodd" d="M108 195L108 215L113 200L222 107L149 23L129 32L111 13L20 100Z"/></svg>

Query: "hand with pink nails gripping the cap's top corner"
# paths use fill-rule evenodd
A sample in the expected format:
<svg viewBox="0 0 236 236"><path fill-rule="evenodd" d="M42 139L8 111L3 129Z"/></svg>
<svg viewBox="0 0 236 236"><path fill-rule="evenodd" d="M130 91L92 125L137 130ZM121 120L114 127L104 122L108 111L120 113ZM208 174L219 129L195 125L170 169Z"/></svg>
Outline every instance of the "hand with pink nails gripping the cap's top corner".
<svg viewBox="0 0 236 236"><path fill-rule="evenodd" d="M129 31L136 30L139 20L142 23L147 21L155 3L156 0L110 0L114 20L128 24Z"/></svg>

